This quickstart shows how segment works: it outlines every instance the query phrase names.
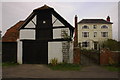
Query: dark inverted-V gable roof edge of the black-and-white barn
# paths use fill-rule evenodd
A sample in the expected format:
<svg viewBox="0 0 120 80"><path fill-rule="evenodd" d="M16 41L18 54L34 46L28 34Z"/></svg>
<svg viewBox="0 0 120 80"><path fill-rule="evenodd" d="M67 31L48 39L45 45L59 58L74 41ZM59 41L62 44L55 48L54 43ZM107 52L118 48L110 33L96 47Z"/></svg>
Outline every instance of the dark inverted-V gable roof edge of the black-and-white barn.
<svg viewBox="0 0 120 80"><path fill-rule="evenodd" d="M63 17L61 17L53 8L51 8L51 7L47 6L47 5L44 5L44 6L40 7L40 8L37 8L37 9L34 9L33 12L30 14L30 16L27 17L24 24L21 25L19 30L24 28L27 25L27 23L29 23L29 21L31 21L31 19L36 15L37 11L40 12L40 11L43 11L43 10L51 10L53 15L56 18L58 18L63 24L65 24L66 27L69 27L70 29L74 30L74 27L72 25L70 25Z"/></svg>

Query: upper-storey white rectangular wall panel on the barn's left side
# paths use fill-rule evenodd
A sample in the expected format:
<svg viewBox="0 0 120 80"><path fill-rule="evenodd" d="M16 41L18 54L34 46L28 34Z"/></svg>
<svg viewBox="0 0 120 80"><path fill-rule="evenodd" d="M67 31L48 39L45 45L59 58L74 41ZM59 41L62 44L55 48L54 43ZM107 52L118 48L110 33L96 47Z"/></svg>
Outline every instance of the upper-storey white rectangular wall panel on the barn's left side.
<svg viewBox="0 0 120 80"><path fill-rule="evenodd" d="M33 39L35 40L35 30L33 29L21 29L20 30L20 39Z"/></svg>

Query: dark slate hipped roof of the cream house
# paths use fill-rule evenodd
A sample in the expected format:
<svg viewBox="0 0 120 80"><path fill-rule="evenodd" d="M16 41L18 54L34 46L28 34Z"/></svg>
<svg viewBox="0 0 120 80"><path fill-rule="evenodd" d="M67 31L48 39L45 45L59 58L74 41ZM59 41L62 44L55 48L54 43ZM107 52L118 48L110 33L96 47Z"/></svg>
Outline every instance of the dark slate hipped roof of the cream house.
<svg viewBox="0 0 120 80"><path fill-rule="evenodd" d="M112 22L106 21L104 19L82 19L78 24L81 23L102 23L102 24L113 24Z"/></svg>

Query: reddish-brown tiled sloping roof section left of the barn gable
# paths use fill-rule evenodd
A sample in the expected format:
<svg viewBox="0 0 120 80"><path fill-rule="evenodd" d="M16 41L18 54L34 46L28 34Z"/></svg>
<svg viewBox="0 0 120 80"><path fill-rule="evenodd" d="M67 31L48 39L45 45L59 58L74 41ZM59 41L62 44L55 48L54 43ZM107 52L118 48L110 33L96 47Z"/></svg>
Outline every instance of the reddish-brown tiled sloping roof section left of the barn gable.
<svg viewBox="0 0 120 80"><path fill-rule="evenodd" d="M13 27L9 28L5 35L2 37L2 42L16 42L19 38L19 28L24 23L24 21L19 21Z"/></svg>

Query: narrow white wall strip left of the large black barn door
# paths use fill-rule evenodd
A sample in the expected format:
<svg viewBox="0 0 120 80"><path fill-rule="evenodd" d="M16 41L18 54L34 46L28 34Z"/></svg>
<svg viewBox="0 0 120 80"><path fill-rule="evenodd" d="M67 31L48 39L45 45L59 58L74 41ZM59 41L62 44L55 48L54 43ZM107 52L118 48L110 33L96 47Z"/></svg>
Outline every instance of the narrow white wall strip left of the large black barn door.
<svg viewBox="0 0 120 80"><path fill-rule="evenodd" d="M17 41L17 63L22 64L22 57L23 57L23 51L22 51L22 41Z"/></svg>

